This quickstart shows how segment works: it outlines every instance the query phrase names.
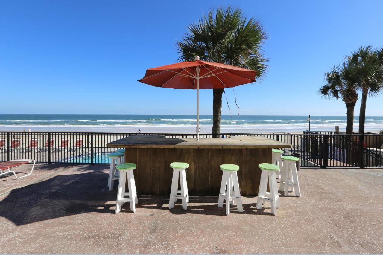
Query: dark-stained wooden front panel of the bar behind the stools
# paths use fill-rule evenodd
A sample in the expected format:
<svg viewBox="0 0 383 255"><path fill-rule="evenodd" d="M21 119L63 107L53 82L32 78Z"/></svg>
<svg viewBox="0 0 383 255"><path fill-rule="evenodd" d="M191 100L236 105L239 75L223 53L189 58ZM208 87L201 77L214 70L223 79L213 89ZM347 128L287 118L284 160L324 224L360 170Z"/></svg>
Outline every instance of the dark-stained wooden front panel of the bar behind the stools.
<svg viewBox="0 0 383 255"><path fill-rule="evenodd" d="M126 148L125 158L136 163L134 170L139 194L169 195L172 183L172 162L187 162L190 195L218 196L222 171L219 165L239 165L238 179L241 195L255 196L260 181L260 163L271 162L271 149L174 149Z"/></svg>

